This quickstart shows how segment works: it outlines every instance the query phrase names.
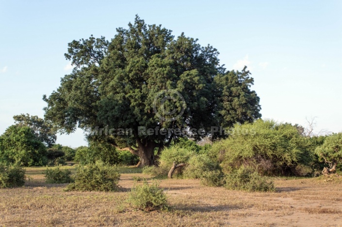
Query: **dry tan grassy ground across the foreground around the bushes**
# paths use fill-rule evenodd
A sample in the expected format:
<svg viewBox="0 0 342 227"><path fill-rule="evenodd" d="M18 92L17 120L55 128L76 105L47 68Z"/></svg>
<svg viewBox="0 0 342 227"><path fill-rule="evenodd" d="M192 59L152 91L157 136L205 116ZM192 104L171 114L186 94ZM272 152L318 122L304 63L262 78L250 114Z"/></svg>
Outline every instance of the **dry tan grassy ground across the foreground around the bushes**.
<svg viewBox="0 0 342 227"><path fill-rule="evenodd" d="M66 166L65 168L73 168ZM340 181L276 181L276 193L205 187L197 180L162 180L169 211L142 212L126 201L141 169L120 168L121 192L65 192L46 184L45 168L27 168L25 187L0 189L0 226L342 226Z"/></svg>

